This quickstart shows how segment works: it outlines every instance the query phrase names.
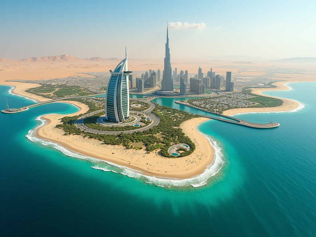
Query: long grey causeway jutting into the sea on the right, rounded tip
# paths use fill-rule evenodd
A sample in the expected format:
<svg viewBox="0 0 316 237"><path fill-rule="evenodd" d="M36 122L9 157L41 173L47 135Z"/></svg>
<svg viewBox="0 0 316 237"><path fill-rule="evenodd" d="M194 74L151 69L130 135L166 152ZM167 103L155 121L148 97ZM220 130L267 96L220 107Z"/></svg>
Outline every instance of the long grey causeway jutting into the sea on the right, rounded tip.
<svg viewBox="0 0 316 237"><path fill-rule="evenodd" d="M207 115L201 115L202 117L208 118L208 119L216 119L216 120L219 120L219 121L232 123L232 124L237 124L237 125L242 125L242 126L251 127L251 128L275 128L275 127L280 126L279 123L273 123L272 121L270 123L268 123L268 124L258 124L258 123L247 122L245 120L237 119L237 118L234 118L234 117L231 117L231 116L228 116L228 115L222 115L222 114L219 114L219 113L213 113L213 112L210 112L208 110L201 109L201 108L199 108L197 106L190 105L189 103L183 102L181 100L176 100L174 102L176 104L185 105L185 106L188 106L188 107L191 107L191 108L195 108L195 109L207 112L207 113L212 113L212 114L215 114L217 116L221 116L223 118L227 118L227 119L223 119L223 118L217 118L217 117L212 117L212 116L207 116ZM230 120L228 120L228 119L230 119Z"/></svg>

